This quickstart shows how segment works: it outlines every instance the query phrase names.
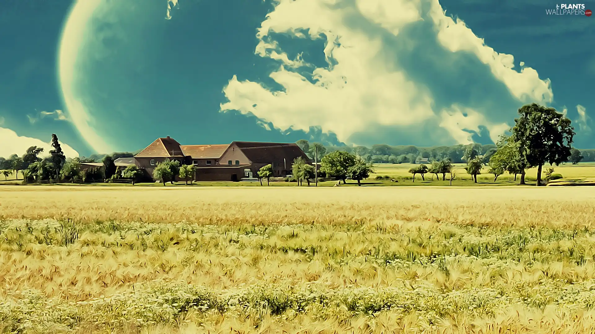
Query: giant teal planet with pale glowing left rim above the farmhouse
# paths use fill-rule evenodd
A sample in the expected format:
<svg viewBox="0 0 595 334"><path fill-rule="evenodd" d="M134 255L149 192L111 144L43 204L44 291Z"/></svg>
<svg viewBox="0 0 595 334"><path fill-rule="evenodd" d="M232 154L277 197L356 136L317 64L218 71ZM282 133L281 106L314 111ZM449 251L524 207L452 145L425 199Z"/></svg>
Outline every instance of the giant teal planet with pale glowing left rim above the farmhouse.
<svg viewBox="0 0 595 334"><path fill-rule="evenodd" d="M166 0L74 2L58 76L65 109L93 150L142 149L164 136L187 144L283 137L254 117L219 111L230 78L258 67L256 27L270 10L232 2L225 15L192 0L183 10Z"/></svg>

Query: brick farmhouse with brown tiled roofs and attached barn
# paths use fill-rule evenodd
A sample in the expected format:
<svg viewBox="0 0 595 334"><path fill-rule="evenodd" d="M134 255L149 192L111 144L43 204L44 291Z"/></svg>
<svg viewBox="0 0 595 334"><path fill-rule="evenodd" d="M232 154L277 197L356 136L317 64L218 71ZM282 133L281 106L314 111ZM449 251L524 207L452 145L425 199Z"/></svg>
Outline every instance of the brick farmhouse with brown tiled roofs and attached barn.
<svg viewBox="0 0 595 334"><path fill-rule="evenodd" d="M149 175L159 162L178 160L183 165L195 165L197 181L240 181L253 179L262 166L272 165L274 177L291 174L293 160L308 156L293 143L257 143L233 141L224 145L181 145L167 136L157 138L134 156L134 163ZM127 161L127 163L131 163Z"/></svg>

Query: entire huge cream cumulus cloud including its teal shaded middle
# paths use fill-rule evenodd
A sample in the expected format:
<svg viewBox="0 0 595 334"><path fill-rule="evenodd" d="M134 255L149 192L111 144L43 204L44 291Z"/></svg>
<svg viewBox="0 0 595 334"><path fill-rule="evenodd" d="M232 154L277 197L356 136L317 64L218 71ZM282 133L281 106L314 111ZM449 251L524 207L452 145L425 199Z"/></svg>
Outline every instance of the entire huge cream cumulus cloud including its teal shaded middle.
<svg viewBox="0 0 595 334"><path fill-rule="evenodd" d="M277 0L258 29L255 53L277 61L271 89L236 76L221 111L253 114L274 127L320 126L351 143L407 136L469 143L495 140L527 102L553 93L530 67L516 70L438 0ZM279 36L324 40L326 64L283 50Z"/></svg>

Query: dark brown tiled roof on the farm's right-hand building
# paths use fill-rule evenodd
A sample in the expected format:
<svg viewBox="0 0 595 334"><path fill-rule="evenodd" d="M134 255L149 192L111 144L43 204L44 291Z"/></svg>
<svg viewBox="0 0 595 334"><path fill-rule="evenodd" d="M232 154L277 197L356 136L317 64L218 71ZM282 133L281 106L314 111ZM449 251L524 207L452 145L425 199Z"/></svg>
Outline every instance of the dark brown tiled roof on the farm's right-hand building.
<svg viewBox="0 0 595 334"><path fill-rule="evenodd" d="M296 157L303 157L306 162L311 160L302 149L293 143L255 143L252 141L234 141L237 147L248 159L255 163L285 162L291 166Z"/></svg>

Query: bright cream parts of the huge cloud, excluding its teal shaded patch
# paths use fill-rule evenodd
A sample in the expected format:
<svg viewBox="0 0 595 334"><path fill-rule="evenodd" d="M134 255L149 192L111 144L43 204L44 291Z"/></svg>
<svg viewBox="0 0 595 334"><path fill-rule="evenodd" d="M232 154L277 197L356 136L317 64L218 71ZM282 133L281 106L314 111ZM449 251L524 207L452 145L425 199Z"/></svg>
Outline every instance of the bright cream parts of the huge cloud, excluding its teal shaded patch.
<svg viewBox="0 0 595 334"><path fill-rule="evenodd" d="M469 141L469 134L462 134L463 128L484 125L500 133L507 130L508 125L494 121L497 111L487 115L480 114L481 108L474 108L461 118L464 103L456 106L459 109L451 107L450 114L441 110L444 107L436 106L434 92L412 78L408 73L411 69L396 65L396 53L389 52L385 36L373 30L379 27L396 36L393 38L406 39L402 36L404 29L418 22L433 24L440 45L447 50L444 52L475 55L490 69L491 80L501 81L508 88L510 95L506 98L538 103L552 100L548 80L541 80L530 67L514 70L512 55L497 53L485 45L462 21L447 17L437 0L356 0L353 6L339 5L339 0L275 2L274 10L256 34L259 43L255 53L280 63L270 77L283 90L271 91L264 84L239 81L234 75L224 87L228 102L221 104L223 112L253 114L281 130L308 131L320 125L346 142L353 134L376 125L402 127L433 122L449 131L451 140L464 143ZM274 39L275 34L324 38L327 66L317 67L300 56L287 55ZM412 47L432 43L431 39L414 37L406 40ZM308 80L310 76L313 82ZM490 137L497 139L500 133L490 133Z"/></svg>

